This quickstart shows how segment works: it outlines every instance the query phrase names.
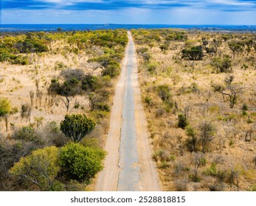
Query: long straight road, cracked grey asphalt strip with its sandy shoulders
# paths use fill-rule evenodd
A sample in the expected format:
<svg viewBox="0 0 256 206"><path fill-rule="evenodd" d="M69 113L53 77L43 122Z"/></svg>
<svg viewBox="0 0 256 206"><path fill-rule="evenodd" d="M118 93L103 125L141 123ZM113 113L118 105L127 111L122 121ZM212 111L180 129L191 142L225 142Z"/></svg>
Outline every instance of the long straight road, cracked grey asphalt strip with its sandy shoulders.
<svg viewBox="0 0 256 206"><path fill-rule="evenodd" d="M142 107L136 51L131 32L114 96L105 150L105 168L96 191L160 191L151 158L148 127Z"/></svg>

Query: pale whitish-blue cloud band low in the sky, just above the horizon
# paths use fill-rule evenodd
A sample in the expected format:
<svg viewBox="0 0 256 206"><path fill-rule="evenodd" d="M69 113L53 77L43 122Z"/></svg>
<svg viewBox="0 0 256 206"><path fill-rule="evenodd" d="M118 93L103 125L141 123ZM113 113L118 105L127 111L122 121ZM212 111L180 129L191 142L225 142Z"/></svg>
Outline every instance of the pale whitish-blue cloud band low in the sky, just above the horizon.
<svg viewBox="0 0 256 206"><path fill-rule="evenodd" d="M256 25L256 11L224 12L195 8L150 10L3 10L2 24L234 24Z"/></svg>

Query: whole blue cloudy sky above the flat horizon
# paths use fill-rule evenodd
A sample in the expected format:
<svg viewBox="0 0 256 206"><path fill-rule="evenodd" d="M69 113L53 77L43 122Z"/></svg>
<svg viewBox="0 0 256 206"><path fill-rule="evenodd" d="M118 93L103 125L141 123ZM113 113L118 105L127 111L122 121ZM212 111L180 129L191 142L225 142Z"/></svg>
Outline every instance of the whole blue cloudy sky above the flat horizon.
<svg viewBox="0 0 256 206"><path fill-rule="evenodd" d="M1 24L256 25L256 0L0 0Z"/></svg>

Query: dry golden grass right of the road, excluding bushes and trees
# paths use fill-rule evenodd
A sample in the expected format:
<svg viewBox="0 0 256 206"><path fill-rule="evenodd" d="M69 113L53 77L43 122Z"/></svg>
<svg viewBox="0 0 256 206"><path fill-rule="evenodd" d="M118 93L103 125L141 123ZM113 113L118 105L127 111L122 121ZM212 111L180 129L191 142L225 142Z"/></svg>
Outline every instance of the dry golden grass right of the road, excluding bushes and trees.
<svg viewBox="0 0 256 206"><path fill-rule="evenodd" d="M196 39L200 43L203 36L211 41L221 34L198 32L187 35L188 39ZM213 82L223 83L229 74L216 74L210 65L212 57L207 54L201 61L181 59L179 52L183 46L184 42L170 41L169 49L162 52L155 43L149 49L150 63L157 65L153 74L148 72L142 56L138 55L142 99L151 99L150 103L145 100L144 106L153 139L153 157L157 161L163 188L165 191L248 191L256 182L253 163L256 148L256 64L248 59L256 57L256 51L252 49L248 55L243 52L232 59L234 84L241 90L235 107L231 109L228 99L214 93L211 87ZM148 45L136 45L136 49L141 47ZM218 51L220 55L232 56L226 42ZM167 107L157 95L158 85L169 85L172 107ZM248 107L246 114L242 113L243 104ZM185 129L177 127L177 117L185 109L188 109L190 126L198 128L202 121L210 121L215 127L214 139L204 154L206 163L199 168L194 164L195 154L190 153L185 145L188 138ZM176 157L174 161L170 160L170 155ZM207 168L215 163L216 158L221 158L221 163L216 163L216 172L220 174L210 175ZM229 180L232 170L238 173L238 182ZM218 177L222 171L226 174L223 179Z"/></svg>

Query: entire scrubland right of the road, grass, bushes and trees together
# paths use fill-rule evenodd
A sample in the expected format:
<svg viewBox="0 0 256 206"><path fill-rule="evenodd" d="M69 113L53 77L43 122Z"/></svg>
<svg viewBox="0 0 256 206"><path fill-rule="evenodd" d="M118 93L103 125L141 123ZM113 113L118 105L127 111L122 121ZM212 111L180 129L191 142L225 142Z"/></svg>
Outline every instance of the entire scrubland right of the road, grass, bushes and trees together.
<svg viewBox="0 0 256 206"><path fill-rule="evenodd" d="M165 191L255 191L256 35L134 29Z"/></svg>

